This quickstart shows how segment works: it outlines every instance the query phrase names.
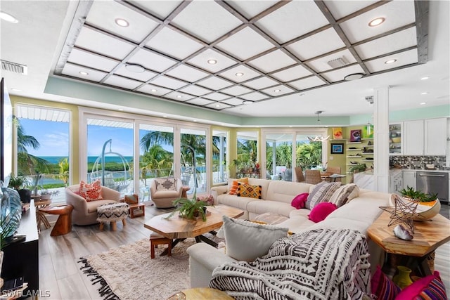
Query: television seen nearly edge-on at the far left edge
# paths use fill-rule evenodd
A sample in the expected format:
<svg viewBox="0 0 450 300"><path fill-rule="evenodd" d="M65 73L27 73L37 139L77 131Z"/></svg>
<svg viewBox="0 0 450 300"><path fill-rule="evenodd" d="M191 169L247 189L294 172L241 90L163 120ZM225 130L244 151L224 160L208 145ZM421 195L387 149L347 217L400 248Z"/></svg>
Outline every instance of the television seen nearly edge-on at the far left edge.
<svg viewBox="0 0 450 300"><path fill-rule="evenodd" d="M0 181L8 186L13 171L13 106L4 78L0 89Z"/></svg>

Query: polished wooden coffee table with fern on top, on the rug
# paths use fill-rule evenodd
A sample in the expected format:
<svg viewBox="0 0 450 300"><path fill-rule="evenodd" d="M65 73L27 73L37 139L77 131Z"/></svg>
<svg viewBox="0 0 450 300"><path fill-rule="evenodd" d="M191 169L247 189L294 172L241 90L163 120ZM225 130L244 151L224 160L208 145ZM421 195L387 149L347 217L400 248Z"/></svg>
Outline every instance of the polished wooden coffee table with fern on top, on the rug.
<svg viewBox="0 0 450 300"><path fill-rule="evenodd" d="M222 216L238 218L244 214L244 211L225 205L207 207L207 211L210 211L211 214L206 217L205 222L201 218L198 220L180 218L178 212L176 212L174 216L169 219L165 218L169 216L170 213L154 216L150 221L144 223L143 226L173 240L172 248L187 237L195 237L196 242L206 242L207 244L217 247L216 242L205 237L203 234L214 232L214 230L220 228L223 223Z"/></svg>

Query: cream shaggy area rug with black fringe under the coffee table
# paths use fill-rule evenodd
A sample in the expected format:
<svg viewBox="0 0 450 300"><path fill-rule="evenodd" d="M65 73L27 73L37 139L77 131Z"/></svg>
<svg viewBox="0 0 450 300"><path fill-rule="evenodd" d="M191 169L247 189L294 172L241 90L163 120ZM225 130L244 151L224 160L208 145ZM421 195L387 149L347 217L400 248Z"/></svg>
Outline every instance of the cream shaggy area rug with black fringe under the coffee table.
<svg viewBox="0 0 450 300"><path fill-rule="evenodd" d="M160 245L155 259L150 259L150 241L110 249L101 254L82 257L82 270L104 299L167 299L189 288L189 256L186 249L195 243L188 238L172 249L172 256L160 256L166 246Z"/></svg>

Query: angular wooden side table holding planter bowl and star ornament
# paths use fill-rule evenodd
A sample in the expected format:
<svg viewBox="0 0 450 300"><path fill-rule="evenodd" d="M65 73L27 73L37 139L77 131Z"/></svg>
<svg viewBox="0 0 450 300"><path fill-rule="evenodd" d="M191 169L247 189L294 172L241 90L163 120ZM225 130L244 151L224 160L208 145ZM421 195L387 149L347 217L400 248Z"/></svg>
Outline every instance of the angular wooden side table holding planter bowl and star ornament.
<svg viewBox="0 0 450 300"><path fill-rule="evenodd" d="M437 214L432 221L414 221L413 240L400 240L394 236L395 226L387 226L390 213L383 214L368 228L368 237L385 252L401 256L401 261L411 270L418 268L421 275L430 275L427 258L437 247L450 240L450 220Z"/></svg>

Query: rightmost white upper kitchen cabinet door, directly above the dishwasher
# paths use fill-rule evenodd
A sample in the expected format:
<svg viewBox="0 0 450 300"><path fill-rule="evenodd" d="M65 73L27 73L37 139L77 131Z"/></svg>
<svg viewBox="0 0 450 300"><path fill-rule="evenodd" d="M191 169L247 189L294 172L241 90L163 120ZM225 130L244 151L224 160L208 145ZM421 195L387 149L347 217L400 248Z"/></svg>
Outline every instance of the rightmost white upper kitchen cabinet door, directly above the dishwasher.
<svg viewBox="0 0 450 300"><path fill-rule="evenodd" d="M425 155L445 155L447 119L425 119Z"/></svg>

